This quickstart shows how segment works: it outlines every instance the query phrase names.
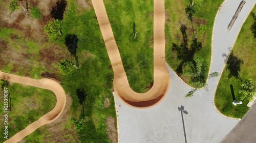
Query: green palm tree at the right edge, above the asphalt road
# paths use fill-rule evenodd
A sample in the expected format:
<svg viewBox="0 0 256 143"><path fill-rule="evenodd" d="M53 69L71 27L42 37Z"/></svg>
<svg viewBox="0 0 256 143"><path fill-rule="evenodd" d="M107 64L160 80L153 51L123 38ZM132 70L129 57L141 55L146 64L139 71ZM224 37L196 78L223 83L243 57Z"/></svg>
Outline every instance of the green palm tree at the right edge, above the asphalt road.
<svg viewBox="0 0 256 143"><path fill-rule="evenodd" d="M252 78L249 78L248 80L244 81L240 85L241 89L238 91L238 93L241 95L241 100L252 100L253 96L256 94L256 85Z"/></svg>

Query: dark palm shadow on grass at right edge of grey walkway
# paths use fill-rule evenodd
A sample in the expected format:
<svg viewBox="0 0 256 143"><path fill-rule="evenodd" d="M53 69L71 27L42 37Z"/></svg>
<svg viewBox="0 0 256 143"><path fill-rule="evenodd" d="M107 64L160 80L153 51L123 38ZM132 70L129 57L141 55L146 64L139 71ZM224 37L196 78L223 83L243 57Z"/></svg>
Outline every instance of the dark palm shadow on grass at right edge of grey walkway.
<svg viewBox="0 0 256 143"><path fill-rule="evenodd" d="M227 68L226 71L229 71L228 78L235 77L237 79L241 79L239 72L241 71L241 66L244 64L244 61L241 58L238 58L237 55L234 55L231 50L229 56L225 53L222 54L227 60Z"/></svg>

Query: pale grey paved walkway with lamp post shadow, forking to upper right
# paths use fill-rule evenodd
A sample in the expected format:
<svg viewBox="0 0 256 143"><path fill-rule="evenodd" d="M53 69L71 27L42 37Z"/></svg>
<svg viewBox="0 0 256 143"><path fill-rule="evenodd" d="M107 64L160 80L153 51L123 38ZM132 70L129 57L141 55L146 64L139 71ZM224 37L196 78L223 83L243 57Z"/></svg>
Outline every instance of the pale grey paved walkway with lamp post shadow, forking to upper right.
<svg viewBox="0 0 256 143"><path fill-rule="evenodd" d="M215 20L210 72L224 69L223 53L228 54L256 0L247 0L230 31L227 26L241 1L226 0ZM148 109L135 109L115 96L121 143L146 142L220 142L239 122L220 115L213 98L220 76L207 80L209 91L199 90L194 97L185 98L190 87L169 69L172 85L165 99ZM178 107L184 106L182 115ZM187 112L187 115L185 114ZM182 120L183 118L183 120ZM184 125L184 127L183 127Z"/></svg>

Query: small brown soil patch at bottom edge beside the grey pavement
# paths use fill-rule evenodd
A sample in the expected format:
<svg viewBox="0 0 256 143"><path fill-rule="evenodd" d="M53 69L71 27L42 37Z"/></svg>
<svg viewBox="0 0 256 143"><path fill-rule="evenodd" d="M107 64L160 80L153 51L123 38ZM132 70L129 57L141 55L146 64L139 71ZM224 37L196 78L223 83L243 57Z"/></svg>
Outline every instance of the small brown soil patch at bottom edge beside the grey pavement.
<svg viewBox="0 0 256 143"><path fill-rule="evenodd" d="M117 142L117 131L116 131L115 118L108 117L106 119L105 124L107 125L106 134L108 134L108 137L112 141L112 143L116 143Z"/></svg>

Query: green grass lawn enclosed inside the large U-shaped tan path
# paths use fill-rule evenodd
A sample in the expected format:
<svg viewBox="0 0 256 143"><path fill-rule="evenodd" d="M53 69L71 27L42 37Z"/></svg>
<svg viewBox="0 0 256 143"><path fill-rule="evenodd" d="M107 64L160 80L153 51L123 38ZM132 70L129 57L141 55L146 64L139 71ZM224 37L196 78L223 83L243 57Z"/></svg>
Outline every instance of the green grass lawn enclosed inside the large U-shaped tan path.
<svg viewBox="0 0 256 143"><path fill-rule="evenodd" d="M130 87L144 93L153 81L153 1L115 0L104 4Z"/></svg>

